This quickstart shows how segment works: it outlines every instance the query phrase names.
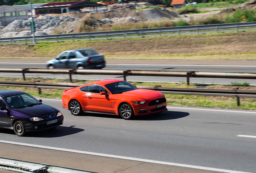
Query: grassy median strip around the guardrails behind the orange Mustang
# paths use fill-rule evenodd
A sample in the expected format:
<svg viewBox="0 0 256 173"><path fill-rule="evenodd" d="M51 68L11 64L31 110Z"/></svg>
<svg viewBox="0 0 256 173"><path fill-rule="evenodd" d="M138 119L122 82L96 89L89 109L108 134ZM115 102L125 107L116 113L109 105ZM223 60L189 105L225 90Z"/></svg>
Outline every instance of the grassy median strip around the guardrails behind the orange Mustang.
<svg viewBox="0 0 256 173"><path fill-rule="evenodd" d="M4 81L22 81L22 78L0 78ZM27 78L26 82L61 82L69 83L68 79L50 79L50 78ZM73 80L73 83L87 84L93 80ZM208 89L246 89L256 90L256 87L248 85L248 82L234 82L235 85L211 85L211 84L191 84L187 86L185 83L153 83L153 82L130 82L137 86L161 86L161 87L178 87L178 88L208 88ZM29 93L33 97L61 98L64 90L62 89L38 89L25 87L2 87L1 90L18 90ZM244 109L256 110L255 98L240 98L240 106L237 106L235 97L215 97L215 96L194 96L194 95L170 95L165 94L168 105L191 106L191 107L214 107L226 109Z"/></svg>

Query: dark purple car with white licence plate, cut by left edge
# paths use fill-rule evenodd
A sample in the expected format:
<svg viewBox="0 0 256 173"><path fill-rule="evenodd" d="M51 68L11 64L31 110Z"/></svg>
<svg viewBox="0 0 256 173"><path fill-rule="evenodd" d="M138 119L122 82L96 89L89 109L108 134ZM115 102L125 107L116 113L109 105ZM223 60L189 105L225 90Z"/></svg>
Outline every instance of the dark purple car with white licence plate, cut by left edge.
<svg viewBox="0 0 256 173"><path fill-rule="evenodd" d="M26 131L51 129L63 124L62 113L22 91L0 90L0 128Z"/></svg>

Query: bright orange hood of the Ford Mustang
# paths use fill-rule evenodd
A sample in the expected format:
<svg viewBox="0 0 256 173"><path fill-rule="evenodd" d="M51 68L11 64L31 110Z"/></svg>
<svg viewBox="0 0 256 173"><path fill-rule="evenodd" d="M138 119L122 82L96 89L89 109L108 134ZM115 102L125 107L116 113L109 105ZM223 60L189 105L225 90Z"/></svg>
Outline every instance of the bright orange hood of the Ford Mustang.
<svg viewBox="0 0 256 173"><path fill-rule="evenodd" d="M164 97L159 91L147 90L147 89L136 89L132 91L126 91L122 93L122 96L132 96L133 98L141 98L145 100L153 99L155 97Z"/></svg>

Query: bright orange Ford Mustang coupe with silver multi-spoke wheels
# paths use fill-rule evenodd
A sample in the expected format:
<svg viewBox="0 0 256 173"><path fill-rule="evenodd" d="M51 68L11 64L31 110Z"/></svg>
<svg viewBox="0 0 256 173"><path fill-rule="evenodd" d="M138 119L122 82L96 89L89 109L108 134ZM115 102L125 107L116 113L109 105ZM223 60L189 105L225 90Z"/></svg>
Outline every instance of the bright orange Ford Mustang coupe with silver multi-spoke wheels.
<svg viewBox="0 0 256 173"><path fill-rule="evenodd" d="M166 110L165 96L159 91L138 89L124 80L101 80L66 89L62 106L73 115L84 112L120 115L132 119Z"/></svg>

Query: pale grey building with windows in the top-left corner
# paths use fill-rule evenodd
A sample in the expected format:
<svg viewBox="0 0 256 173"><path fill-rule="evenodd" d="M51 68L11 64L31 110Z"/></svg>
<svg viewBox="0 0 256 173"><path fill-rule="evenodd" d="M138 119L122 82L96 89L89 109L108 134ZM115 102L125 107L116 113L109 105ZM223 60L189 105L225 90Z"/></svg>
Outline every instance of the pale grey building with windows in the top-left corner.
<svg viewBox="0 0 256 173"><path fill-rule="evenodd" d="M2 22L2 26L7 26L14 20L22 19L22 20L28 20L28 9L27 7L18 7L18 6L0 6L0 13L4 13L4 17L0 18L0 21ZM25 11L24 16L17 16L17 12ZM13 16L7 17L6 13L8 12L14 12Z"/></svg>

